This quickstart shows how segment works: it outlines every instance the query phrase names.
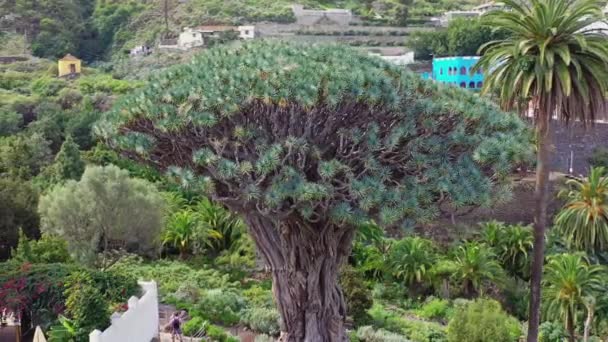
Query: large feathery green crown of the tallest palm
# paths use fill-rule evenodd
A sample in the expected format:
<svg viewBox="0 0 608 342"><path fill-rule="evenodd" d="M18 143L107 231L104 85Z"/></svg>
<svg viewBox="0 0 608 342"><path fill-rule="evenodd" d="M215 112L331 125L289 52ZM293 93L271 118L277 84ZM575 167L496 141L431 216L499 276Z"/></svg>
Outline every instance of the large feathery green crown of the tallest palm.
<svg viewBox="0 0 608 342"><path fill-rule="evenodd" d="M536 99L536 115L554 113L590 121L604 108L608 91L606 36L589 25L604 21L595 0L503 1L511 10L493 11L486 21L508 32L504 40L481 48L477 68L491 70L484 91L499 89L500 99ZM508 85L508 86L505 86Z"/></svg>

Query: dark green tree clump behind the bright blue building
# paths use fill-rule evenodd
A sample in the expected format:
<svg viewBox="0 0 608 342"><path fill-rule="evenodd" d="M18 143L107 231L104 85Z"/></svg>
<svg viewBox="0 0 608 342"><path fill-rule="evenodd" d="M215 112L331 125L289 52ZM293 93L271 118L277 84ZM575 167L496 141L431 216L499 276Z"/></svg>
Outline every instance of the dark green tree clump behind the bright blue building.
<svg viewBox="0 0 608 342"><path fill-rule="evenodd" d="M451 20L445 30L412 33L406 44L416 59L444 56L476 56L485 43L504 39L506 32L484 25L479 19Z"/></svg>

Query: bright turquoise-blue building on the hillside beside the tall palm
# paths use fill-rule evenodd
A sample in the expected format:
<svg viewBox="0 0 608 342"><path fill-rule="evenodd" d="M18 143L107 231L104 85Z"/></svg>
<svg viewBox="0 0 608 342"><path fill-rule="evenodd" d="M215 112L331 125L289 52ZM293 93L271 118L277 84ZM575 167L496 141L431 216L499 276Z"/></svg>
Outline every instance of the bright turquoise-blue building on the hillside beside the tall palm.
<svg viewBox="0 0 608 342"><path fill-rule="evenodd" d="M423 74L422 78L450 84L460 88L479 90L483 86L483 74L471 74L478 56L442 57L433 59L433 71Z"/></svg>

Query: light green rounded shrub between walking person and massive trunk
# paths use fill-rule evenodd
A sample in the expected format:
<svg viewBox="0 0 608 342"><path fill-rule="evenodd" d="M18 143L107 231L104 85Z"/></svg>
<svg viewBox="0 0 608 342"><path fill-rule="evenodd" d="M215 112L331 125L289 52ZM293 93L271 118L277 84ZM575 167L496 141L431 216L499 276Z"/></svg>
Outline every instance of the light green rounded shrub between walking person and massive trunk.
<svg viewBox="0 0 608 342"><path fill-rule="evenodd" d="M198 307L213 323L233 325L239 322L245 300L233 290L212 289L203 295Z"/></svg>

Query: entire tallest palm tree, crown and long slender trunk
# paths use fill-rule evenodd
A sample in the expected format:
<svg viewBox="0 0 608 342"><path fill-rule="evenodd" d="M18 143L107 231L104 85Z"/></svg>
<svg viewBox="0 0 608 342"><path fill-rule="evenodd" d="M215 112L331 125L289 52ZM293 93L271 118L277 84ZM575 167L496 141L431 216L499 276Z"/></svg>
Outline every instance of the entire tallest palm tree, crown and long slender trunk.
<svg viewBox="0 0 608 342"><path fill-rule="evenodd" d="M549 194L549 123L593 122L604 109L608 89L608 45L600 32L586 29L603 21L596 0L503 0L508 11L489 12L485 21L507 38L481 47L473 72L486 70L482 93L499 90L503 108L519 102L533 113L537 136L534 252L530 277L528 341L537 341L540 282Z"/></svg>

